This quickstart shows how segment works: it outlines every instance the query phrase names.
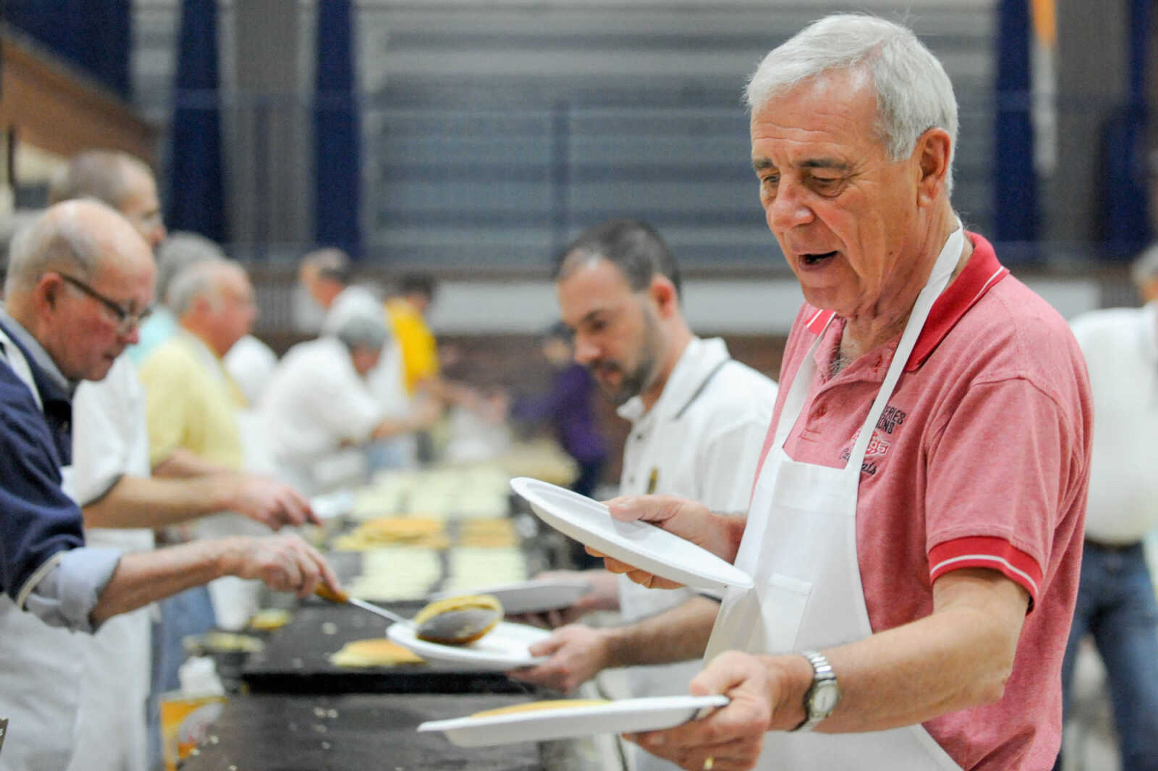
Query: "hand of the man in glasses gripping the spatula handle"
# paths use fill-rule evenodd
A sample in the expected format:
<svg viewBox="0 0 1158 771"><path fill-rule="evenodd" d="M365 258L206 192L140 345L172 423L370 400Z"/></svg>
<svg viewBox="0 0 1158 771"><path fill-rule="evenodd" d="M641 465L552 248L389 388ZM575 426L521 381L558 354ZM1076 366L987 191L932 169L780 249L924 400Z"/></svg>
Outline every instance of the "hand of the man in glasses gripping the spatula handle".
<svg viewBox="0 0 1158 771"><path fill-rule="evenodd" d="M264 581L274 592L314 593L318 582L340 590L338 577L322 555L293 534L229 539L223 572Z"/></svg>

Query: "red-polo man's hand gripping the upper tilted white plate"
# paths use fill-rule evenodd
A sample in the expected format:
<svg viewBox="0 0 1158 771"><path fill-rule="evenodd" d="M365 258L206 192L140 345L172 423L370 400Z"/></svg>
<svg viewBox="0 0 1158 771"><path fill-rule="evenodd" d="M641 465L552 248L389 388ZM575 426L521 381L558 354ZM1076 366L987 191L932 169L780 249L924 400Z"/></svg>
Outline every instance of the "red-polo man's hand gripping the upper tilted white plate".
<svg viewBox="0 0 1158 771"><path fill-rule="evenodd" d="M673 533L686 541L703 546L731 561L735 557L734 548L719 524L719 520L703 504L684 500L675 495L624 495L607 501L611 516L621 522L651 522ZM676 589L682 583L660 578L654 573L643 571L633 565L613 559L607 555L587 546L587 553L602 557L607 570L613 573L624 573L636 583L650 589Z"/></svg>

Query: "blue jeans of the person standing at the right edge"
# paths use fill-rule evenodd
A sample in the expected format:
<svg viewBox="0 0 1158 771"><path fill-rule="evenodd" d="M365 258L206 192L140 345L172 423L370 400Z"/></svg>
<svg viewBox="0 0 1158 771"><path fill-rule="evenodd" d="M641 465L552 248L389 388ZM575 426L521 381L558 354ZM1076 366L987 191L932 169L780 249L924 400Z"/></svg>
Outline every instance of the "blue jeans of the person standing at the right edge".
<svg viewBox="0 0 1158 771"><path fill-rule="evenodd" d="M1158 603L1142 544L1086 541L1073 626L1062 664L1065 714L1078 645L1092 634L1106 664L1122 771L1158 769ZM1058 765L1061 768L1061 759Z"/></svg>

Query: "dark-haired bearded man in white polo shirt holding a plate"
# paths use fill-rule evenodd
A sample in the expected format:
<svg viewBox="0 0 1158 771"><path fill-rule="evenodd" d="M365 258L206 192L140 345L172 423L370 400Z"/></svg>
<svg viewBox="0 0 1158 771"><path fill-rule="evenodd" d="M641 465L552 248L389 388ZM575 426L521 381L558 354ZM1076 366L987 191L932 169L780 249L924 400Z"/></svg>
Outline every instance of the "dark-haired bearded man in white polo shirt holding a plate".
<svg viewBox="0 0 1158 771"><path fill-rule="evenodd" d="M723 340L691 333L680 309L679 266L660 235L638 221L599 225L566 249L555 280L576 361L631 423L621 494L747 507L776 384L731 359ZM616 587L606 571L588 574L602 592L581 609L618 605L624 624L563 626L532 647L550 659L513 676L570 691L608 667L632 667L632 696L687 692L719 604L689 589L646 589L626 579ZM646 754L638 761L640 771L672 768Z"/></svg>

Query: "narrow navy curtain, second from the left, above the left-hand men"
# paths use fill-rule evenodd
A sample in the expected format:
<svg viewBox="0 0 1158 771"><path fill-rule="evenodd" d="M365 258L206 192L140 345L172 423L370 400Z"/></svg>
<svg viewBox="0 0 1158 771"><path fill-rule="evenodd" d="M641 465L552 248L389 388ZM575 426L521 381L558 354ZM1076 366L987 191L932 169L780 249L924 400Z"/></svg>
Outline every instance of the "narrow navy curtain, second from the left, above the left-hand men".
<svg viewBox="0 0 1158 771"><path fill-rule="evenodd" d="M225 241L217 0L182 0L167 219L173 230Z"/></svg>

